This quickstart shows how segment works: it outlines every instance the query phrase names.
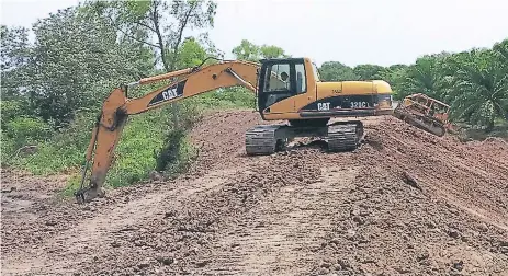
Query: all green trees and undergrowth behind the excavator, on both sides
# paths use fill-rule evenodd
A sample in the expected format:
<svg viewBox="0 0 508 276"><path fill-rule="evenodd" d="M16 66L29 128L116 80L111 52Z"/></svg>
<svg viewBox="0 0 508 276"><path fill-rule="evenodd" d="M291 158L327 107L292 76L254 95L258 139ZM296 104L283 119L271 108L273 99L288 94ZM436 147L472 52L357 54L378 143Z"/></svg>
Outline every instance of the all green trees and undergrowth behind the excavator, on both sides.
<svg viewBox="0 0 508 276"><path fill-rule="evenodd" d="M29 42L29 30L2 25L2 163L14 162L9 157L20 148L38 145L38 156L23 159L24 164L48 166L58 161L56 171L81 164L91 125L112 88L193 67L210 56L224 57L207 33L216 11L213 0L93 0L37 20L34 42ZM199 34L191 36L190 30ZM291 56L275 45L247 39L232 54L253 61ZM450 103L453 119L487 129L508 119L508 39L487 49L422 56L411 65L349 67L327 61L319 73L324 81L382 79L397 99L422 92ZM131 91L129 96L155 88ZM143 165L133 169L138 173L129 174L129 181L150 168L163 171L189 159L185 133L197 117L196 106L247 107L252 101L251 93L232 88L132 118L118 152L139 154L136 163ZM151 136L140 139L140 129ZM161 142L155 142L159 138ZM63 158L49 160L54 156ZM127 163L134 168L134 162Z"/></svg>

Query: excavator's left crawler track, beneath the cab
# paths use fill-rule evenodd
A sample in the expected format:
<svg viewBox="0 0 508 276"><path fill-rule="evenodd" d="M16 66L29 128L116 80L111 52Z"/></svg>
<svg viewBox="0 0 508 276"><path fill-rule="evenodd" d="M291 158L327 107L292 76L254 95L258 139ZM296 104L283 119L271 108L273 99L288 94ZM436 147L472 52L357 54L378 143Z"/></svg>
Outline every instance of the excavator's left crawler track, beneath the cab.
<svg viewBox="0 0 508 276"><path fill-rule="evenodd" d="M268 156L275 152L275 131L280 125L255 126L247 130L245 148L249 156Z"/></svg>

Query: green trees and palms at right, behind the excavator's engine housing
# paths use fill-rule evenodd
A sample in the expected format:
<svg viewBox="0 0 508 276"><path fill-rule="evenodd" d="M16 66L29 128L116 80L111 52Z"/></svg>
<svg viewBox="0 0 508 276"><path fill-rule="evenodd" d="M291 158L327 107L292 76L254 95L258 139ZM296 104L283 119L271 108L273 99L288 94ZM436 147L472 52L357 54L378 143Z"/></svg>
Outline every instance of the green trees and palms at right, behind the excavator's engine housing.
<svg viewBox="0 0 508 276"><path fill-rule="evenodd" d="M451 119L492 130L508 120L508 38L492 48L440 53L418 57L411 65L359 65L338 61L319 68L326 81L387 81L395 97L425 93L451 105Z"/></svg>

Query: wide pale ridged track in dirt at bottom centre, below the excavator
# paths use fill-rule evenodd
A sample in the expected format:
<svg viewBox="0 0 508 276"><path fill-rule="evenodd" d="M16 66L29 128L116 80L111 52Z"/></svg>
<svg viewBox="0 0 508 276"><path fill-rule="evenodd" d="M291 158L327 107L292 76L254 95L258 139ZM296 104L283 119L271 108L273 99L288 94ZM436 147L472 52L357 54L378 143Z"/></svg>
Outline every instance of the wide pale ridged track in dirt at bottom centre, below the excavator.
<svg viewBox="0 0 508 276"><path fill-rule="evenodd" d="M345 189L350 188L358 169L321 169L320 180L307 185L287 185L271 194L245 219L221 234L222 250L211 256L221 275L300 275L334 228L331 212ZM339 180L338 182L336 180Z"/></svg>

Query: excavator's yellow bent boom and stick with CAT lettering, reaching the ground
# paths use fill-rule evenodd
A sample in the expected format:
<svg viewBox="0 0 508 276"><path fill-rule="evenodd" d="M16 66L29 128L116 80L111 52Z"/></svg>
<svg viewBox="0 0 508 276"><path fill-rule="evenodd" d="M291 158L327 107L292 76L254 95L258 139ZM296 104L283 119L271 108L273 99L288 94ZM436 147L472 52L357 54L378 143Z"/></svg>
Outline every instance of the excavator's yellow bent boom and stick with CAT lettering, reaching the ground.
<svg viewBox="0 0 508 276"><path fill-rule="evenodd" d="M168 72L114 89L104 100L102 111L92 131L81 176L81 186L75 193L78 203L103 196L102 185L111 166L114 150L129 115L140 114L190 96L218 88L244 85L257 91L259 65L249 61L222 61ZM128 99L128 88L170 80L171 83L142 97ZM90 162L91 175L83 186Z"/></svg>

